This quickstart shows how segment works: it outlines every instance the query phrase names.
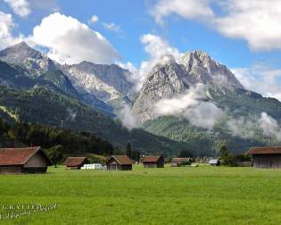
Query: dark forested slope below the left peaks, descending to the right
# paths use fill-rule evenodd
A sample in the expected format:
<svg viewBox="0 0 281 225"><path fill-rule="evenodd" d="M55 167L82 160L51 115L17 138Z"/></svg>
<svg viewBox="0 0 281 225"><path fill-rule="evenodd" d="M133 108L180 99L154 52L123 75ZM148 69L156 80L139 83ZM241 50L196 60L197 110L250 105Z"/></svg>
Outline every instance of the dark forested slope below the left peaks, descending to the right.
<svg viewBox="0 0 281 225"><path fill-rule="evenodd" d="M131 132L119 123L73 98L58 95L43 87L29 91L0 87L0 115L9 121L29 121L64 129L89 131L116 146L131 143L143 152L157 152L166 148L178 151L181 146L166 137L157 137L142 129Z"/></svg>

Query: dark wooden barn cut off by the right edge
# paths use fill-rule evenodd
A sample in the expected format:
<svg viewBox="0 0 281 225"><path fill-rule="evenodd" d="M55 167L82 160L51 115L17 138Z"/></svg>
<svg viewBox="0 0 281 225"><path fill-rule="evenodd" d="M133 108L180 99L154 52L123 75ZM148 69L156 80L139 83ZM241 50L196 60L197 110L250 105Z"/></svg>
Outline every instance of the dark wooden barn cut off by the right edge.
<svg viewBox="0 0 281 225"><path fill-rule="evenodd" d="M252 166L255 168L281 168L281 146L252 147Z"/></svg>

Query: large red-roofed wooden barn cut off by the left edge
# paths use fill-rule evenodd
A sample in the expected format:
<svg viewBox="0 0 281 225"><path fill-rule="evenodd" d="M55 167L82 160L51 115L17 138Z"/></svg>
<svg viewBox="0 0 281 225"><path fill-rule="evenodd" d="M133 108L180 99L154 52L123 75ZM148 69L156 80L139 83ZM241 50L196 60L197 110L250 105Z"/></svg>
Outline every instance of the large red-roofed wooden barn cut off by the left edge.
<svg viewBox="0 0 281 225"><path fill-rule="evenodd" d="M41 147L0 148L0 174L43 173L51 165Z"/></svg>

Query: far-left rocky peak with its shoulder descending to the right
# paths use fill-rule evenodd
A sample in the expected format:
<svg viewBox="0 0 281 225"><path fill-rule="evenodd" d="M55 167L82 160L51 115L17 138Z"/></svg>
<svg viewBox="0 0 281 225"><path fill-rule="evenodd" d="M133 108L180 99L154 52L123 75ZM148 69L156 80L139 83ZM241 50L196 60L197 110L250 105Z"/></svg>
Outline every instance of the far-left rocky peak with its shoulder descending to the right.
<svg viewBox="0 0 281 225"><path fill-rule="evenodd" d="M5 79L2 79L2 85L6 87L21 89L45 87L58 94L77 98L111 117L115 116L112 113L112 106L104 103L98 96L89 96L88 93L80 94L76 87L72 85L69 77L62 72L62 65L55 63L46 54L41 54L25 42L0 51L0 61L2 61L0 71L7 71L4 69L4 63L6 63L5 66L10 67L10 71L12 70L9 74L2 76L5 77ZM17 74L17 78L11 82L10 79L14 74Z"/></svg>

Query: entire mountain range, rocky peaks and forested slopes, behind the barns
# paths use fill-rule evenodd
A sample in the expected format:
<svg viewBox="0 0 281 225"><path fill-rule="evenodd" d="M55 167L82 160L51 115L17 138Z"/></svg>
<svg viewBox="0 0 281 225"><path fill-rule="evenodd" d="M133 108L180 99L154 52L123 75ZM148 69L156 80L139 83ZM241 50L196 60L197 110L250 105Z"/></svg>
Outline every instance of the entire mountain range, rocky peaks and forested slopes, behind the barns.
<svg viewBox="0 0 281 225"><path fill-rule="evenodd" d="M246 90L225 65L202 51L186 52L177 60L168 55L149 72L138 93L132 92L130 76L116 64L61 65L22 42L0 51L0 115L10 122L62 124L93 132L116 146L129 142L143 152L166 154L188 149L213 155L223 144L233 152L268 145L269 134L261 129L272 132L270 124L254 126L264 113L272 130L281 130L276 124L281 122L281 103ZM161 100L172 103L161 110L181 112L155 112ZM121 125L114 113L124 104L131 106L125 119L136 120L140 129L129 131ZM189 104L195 110L187 116ZM218 120L212 118L216 113ZM202 126L205 121L211 126ZM278 139L270 137L274 143Z"/></svg>

